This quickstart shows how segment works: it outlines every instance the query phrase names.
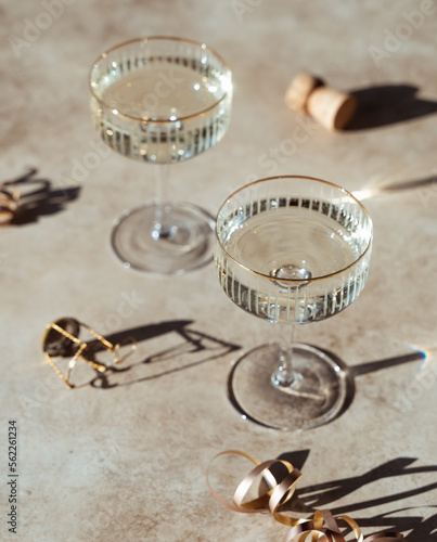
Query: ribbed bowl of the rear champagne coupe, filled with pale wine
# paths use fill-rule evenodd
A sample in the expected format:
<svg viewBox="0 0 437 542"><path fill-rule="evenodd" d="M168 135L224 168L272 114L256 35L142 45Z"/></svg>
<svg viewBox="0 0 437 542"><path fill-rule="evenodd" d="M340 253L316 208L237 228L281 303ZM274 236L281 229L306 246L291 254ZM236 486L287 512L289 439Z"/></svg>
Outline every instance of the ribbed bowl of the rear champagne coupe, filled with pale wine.
<svg viewBox="0 0 437 542"><path fill-rule="evenodd" d="M136 85L137 95L128 94ZM94 62L90 88L97 131L130 158L187 160L214 146L228 128L231 72L202 43L162 37L123 43Z"/></svg>

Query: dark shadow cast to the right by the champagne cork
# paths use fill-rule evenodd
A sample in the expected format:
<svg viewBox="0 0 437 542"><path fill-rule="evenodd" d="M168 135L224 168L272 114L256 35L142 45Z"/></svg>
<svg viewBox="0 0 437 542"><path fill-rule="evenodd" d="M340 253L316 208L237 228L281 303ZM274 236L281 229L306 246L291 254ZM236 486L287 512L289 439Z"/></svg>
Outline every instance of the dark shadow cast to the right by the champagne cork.
<svg viewBox="0 0 437 542"><path fill-rule="evenodd" d="M346 131L369 130L437 113L437 101L422 100L412 85L384 85L349 92L358 107Z"/></svg>

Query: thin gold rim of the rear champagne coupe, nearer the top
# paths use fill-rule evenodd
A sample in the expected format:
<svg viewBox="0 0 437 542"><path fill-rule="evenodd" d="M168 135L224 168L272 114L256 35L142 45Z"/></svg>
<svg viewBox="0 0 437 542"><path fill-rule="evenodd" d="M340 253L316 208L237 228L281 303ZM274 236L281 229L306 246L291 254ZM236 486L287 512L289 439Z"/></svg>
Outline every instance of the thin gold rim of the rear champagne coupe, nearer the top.
<svg viewBox="0 0 437 542"><path fill-rule="evenodd" d="M95 94L94 88L92 87L92 82L93 82L92 81L92 77L91 77L92 70L94 68L98 68L99 67L99 63L102 60L106 59L106 56L110 53L112 53L114 51L117 51L118 49L123 49L124 47L127 47L127 46L130 46L130 44L133 44L133 43L140 43L140 42L146 43L147 41L158 41L158 40L163 40L163 41L164 40L167 40L167 41L180 41L180 42L183 42L183 43L188 43L188 44L191 44L191 46L198 47L198 48L203 49L204 51L208 51L211 54L214 54L217 60L220 61L220 63L223 66L223 70L226 73L228 73L228 74L231 74L231 68L223 61L223 59L214 49L211 49L210 47L208 47L206 43L201 43L200 41L194 41L194 40L187 39L187 38L177 38L177 37L173 37L173 36L150 36L150 37L144 36L144 37L141 37L141 38L133 38L133 39L130 39L128 41L124 41L123 43L118 43L117 46L114 46L111 49L106 49L92 63L92 67L90 69L89 77L88 77L88 83L89 83L89 88L90 88L92 96L97 100L97 102L102 107L104 107L106 111L110 111L110 112L112 112L114 109L114 107L111 107L110 105L107 105L103 100L101 100ZM169 122L177 122L177 121L182 121L182 120L189 120L191 118L196 118L196 117L200 117L202 115L206 115L208 112L215 109L221 102L223 102L228 98L228 95L229 95L229 90L227 90L224 92L224 94L220 98L220 100L218 100L217 102L215 102L213 105L210 105L206 109L203 109L200 113L195 113L193 115L187 115L184 117L178 117L176 120L170 120L170 119L153 120L153 119L149 119L149 118L139 118L139 117L132 117L131 115L126 115L125 113L119 113L119 112L117 112L117 117L126 118L128 120L134 120L137 122L146 122L146 124L151 124L151 125L152 124L153 125L164 125L164 124L169 124Z"/></svg>

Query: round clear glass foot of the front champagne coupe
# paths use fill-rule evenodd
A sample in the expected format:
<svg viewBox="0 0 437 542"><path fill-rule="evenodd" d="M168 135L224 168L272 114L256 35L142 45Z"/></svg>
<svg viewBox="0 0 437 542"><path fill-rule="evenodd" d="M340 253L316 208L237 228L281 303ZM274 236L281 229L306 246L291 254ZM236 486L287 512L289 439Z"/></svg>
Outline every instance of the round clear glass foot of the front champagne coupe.
<svg viewBox="0 0 437 542"><path fill-rule="evenodd" d="M229 392L248 420L272 429L301 431L333 420L347 398L347 372L322 350L296 344L288 387L275 385L280 348L262 345L245 353L232 369Z"/></svg>

